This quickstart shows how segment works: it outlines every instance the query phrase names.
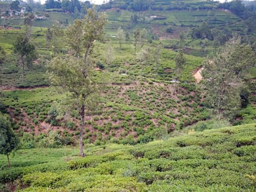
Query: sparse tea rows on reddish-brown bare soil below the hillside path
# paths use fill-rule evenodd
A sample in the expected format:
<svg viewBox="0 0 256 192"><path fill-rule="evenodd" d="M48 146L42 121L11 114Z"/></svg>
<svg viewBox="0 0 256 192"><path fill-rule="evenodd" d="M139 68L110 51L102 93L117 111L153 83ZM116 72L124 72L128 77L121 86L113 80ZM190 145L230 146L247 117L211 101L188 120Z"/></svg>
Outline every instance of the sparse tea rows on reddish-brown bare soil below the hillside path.
<svg viewBox="0 0 256 192"><path fill-rule="evenodd" d="M148 142L210 117L201 107L201 94L195 86L183 84L178 91L174 94L172 84L152 81L107 85L102 105L86 116L87 142L99 144L114 138L115 142L130 144ZM78 114L72 113L72 120L55 120L50 115L51 106L63 97L50 88L5 91L3 104L21 137L24 133L39 137L56 131L63 137L76 138Z"/></svg>

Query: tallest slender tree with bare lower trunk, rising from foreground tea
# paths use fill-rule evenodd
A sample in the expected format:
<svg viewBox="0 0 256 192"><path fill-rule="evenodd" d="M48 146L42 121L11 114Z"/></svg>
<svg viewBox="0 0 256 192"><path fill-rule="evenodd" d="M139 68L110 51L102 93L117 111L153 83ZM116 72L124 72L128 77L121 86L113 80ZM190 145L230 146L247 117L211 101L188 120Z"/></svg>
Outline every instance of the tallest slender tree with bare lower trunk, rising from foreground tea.
<svg viewBox="0 0 256 192"><path fill-rule="evenodd" d="M84 156L83 132L85 110L89 110L95 104L94 101L99 97L99 92L102 90L100 88L101 85L94 79L91 52L93 42L103 37L106 17L103 14L99 14L95 9L88 9L87 15L79 23L83 29L81 45L84 47L84 57L55 57L49 65L49 72L54 86L71 93L67 97L67 101L71 104L70 109L77 110L81 118L79 148L81 156Z"/></svg>

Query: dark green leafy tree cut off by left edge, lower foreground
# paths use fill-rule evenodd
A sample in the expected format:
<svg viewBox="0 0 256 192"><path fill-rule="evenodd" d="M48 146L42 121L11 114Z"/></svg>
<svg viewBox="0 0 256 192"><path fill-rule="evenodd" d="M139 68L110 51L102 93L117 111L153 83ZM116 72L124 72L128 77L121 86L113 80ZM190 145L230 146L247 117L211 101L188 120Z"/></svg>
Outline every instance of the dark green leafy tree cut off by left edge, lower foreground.
<svg viewBox="0 0 256 192"><path fill-rule="evenodd" d="M18 146L19 140L11 128L11 123L6 115L0 113L0 154L7 155L10 167L9 154Z"/></svg>

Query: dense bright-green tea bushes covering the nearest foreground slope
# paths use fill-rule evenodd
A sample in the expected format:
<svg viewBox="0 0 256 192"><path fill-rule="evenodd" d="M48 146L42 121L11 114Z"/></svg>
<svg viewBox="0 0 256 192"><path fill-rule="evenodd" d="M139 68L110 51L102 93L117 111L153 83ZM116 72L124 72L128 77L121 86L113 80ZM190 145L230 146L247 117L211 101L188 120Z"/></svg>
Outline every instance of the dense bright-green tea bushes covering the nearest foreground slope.
<svg viewBox="0 0 256 192"><path fill-rule="evenodd" d="M255 191L256 124L146 145L88 145L85 152L19 150L10 169L1 155L0 182L20 178L16 187L27 192Z"/></svg>

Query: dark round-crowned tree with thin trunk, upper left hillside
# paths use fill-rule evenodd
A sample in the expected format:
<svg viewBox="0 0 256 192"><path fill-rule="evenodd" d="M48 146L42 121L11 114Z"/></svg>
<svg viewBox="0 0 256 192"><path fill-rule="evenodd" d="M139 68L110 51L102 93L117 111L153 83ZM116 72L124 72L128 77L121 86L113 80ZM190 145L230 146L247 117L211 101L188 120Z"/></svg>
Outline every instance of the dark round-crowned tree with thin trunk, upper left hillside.
<svg viewBox="0 0 256 192"><path fill-rule="evenodd" d="M24 82L24 67L36 59L36 48L26 36L19 36L13 44L13 52L18 55L22 64L22 82Z"/></svg>

